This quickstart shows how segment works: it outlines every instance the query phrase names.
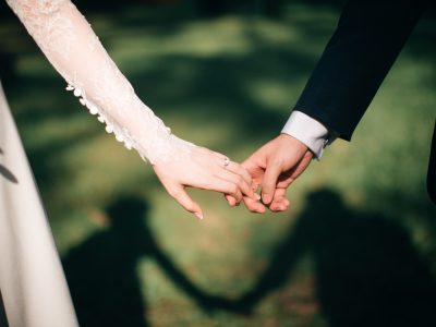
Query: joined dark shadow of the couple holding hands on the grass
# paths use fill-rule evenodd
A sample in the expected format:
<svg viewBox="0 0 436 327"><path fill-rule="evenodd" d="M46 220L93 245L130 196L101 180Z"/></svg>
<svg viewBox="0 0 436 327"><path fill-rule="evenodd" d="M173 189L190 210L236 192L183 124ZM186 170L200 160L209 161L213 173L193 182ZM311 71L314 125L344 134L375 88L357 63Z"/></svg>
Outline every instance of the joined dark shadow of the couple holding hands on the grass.
<svg viewBox="0 0 436 327"><path fill-rule="evenodd" d="M136 274L144 256L154 258L205 312L250 315L266 295L290 282L305 255L314 258L315 295L330 326L436 326L435 281L405 230L386 217L348 208L332 191L308 196L268 267L238 300L197 288L158 246L147 210L140 198L117 201L107 209L111 227L63 259L81 326L147 326Z"/></svg>

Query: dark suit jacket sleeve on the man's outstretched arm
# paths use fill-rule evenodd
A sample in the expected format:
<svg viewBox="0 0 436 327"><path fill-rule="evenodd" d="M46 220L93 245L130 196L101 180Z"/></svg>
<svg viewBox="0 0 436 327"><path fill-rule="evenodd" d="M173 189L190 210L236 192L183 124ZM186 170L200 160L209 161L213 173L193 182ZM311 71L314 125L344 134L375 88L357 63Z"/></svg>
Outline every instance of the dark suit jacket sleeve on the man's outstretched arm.
<svg viewBox="0 0 436 327"><path fill-rule="evenodd" d="M350 141L425 1L351 0L295 108Z"/></svg>

